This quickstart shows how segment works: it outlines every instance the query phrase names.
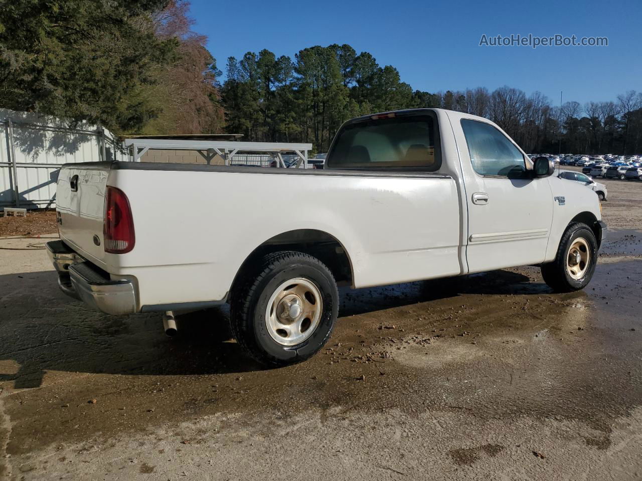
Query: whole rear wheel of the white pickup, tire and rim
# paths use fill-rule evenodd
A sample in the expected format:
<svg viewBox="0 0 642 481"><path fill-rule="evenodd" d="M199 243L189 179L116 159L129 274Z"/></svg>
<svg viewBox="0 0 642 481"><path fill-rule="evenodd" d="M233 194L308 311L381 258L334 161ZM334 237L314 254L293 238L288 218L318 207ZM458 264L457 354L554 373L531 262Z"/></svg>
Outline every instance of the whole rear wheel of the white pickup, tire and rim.
<svg viewBox="0 0 642 481"><path fill-rule="evenodd" d="M230 327L236 341L266 366L312 357L329 339L339 294L320 260L295 251L259 259L232 289Z"/></svg>

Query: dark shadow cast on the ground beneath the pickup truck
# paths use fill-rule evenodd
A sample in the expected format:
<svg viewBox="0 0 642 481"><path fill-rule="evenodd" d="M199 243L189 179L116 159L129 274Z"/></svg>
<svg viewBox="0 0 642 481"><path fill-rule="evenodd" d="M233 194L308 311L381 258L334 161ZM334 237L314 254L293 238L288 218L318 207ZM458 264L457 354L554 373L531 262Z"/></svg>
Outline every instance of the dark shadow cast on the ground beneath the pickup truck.
<svg viewBox="0 0 642 481"><path fill-rule="evenodd" d="M177 289L180 287L177 286ZM546 292L510 271L370 289L342 289L342 316L458 296ZM204 375L263 369L231 340L227 306L178 317L179 333L162 332L160 314L107 316L58 291L52 271L0 276L0 382L39 387L46 371L127 375ZM341 319L340 321L341 322ZM4 371L4 372L3 372Z"/></svg>

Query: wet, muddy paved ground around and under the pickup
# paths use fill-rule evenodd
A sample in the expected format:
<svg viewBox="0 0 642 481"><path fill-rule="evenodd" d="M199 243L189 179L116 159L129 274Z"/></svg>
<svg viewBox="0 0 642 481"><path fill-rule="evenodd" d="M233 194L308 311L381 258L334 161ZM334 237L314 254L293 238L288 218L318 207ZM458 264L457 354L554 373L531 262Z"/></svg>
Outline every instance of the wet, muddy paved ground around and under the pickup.
<svg viewBox="0 0 642 481"><path fill-rule="evenodd" d="M45 240L0 241L0 478L639 479L642 182L605 183L586 290L534 267L343 290L327 349L270 371L224 309L168 339L65 298Z"/></svg>

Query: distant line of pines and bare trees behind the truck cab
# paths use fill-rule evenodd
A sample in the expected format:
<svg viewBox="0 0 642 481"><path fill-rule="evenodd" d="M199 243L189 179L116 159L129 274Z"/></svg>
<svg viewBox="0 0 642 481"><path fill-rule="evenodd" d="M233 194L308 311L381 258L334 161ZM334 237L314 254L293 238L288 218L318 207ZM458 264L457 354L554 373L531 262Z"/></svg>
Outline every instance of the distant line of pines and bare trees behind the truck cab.
<svg viewBox="0 0 642 481"><path fill-rule="evenodd" d="M368 52L332 44L300 50L294 59L269 51L231 58L222 89L227 130L248 140L312 142L325 151L343 121L403 108L446 108L487 117L531 152L575 153L642 148L642 96L627 92L614 102L567 102L562 108L533 92L504 86L446 92L412 90L392 65ZM582 112L586 113L582 117ZM626 112L626 113L625 113ZM261 114L261 115L259 115ZM626 145L624 144L626 140Z"/></svg>

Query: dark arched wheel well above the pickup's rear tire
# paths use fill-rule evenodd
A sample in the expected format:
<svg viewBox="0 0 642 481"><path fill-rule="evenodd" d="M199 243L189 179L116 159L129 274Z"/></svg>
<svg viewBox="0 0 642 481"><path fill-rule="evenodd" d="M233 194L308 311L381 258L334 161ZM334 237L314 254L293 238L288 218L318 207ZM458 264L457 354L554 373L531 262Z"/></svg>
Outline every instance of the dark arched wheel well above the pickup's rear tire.
<svg viewBox="0 0 642 481"><path fill-rule="evenodd" d="M327 232L300 229L284 232L271 237L258 246L245 259L239 273L252 265L257 257L275 251L299 251L318 258L332 272L338 285L352 285L352 264L341 242ZM239 276L236 274L234 283Z"/></svg>

